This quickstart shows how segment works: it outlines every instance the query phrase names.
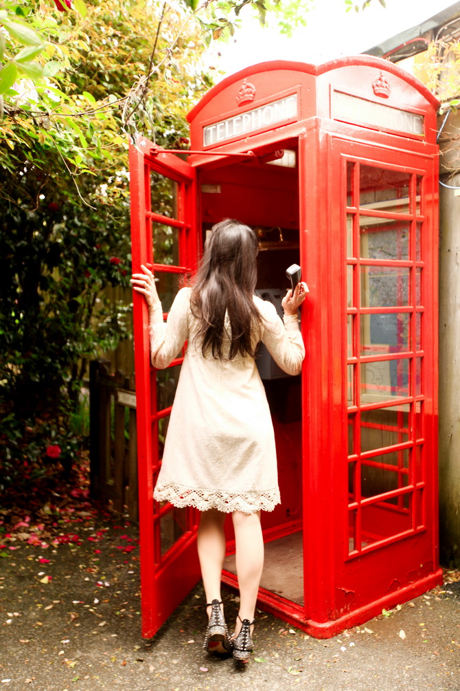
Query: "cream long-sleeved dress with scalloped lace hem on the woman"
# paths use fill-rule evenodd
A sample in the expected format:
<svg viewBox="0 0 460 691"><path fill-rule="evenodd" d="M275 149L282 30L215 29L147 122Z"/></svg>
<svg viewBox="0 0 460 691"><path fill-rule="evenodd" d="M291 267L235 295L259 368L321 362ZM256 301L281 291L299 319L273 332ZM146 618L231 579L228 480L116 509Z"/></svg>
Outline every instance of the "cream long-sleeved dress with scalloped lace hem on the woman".
<svg viewBox="0 0 460 691"><path fill-rule="evenodd" d="M272 511L280 502L274 432L265 389L252 357L203 357L190 288L174 299L163 323L161 303L150 310L152 365L165 368L188 341L154 498L206 511ZM284 324L274 305L254 296L263 328L254 333L277 364L297 375L305 355L297 316ZM230 323L226 322L227 332Z"/></svg>

